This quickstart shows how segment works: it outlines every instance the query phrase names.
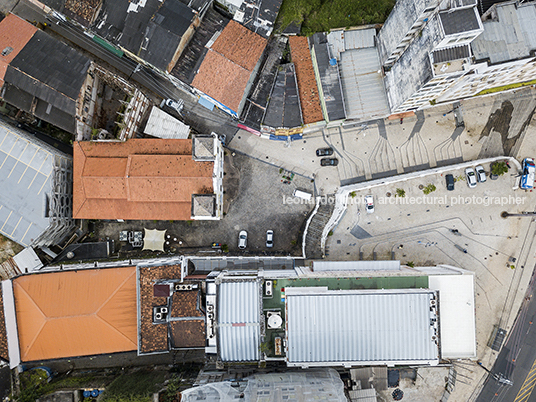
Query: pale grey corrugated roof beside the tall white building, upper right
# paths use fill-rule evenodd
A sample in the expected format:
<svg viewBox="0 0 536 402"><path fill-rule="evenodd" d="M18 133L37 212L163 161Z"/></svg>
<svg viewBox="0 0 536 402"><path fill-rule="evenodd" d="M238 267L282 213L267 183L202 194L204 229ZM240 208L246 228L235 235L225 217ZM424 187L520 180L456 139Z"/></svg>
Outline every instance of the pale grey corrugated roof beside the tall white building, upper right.
<svg viewBox="0 0 536 402"><path fill-rule="evenodd" d="M340 73L349 119L383 117L389 114L376 48L342 53Z"/></svg>

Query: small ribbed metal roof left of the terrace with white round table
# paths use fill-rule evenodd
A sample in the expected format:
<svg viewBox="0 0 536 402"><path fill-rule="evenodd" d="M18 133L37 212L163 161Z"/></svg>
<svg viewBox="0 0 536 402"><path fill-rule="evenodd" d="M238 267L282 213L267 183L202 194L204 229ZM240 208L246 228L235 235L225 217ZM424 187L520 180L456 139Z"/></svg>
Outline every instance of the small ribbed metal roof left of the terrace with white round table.
<svg viewBox="0 0 536 402"><path fill-rule="evenodd" d="M219 285L218 335L222 361L259 360L260 290L256 281Z"/></svg>

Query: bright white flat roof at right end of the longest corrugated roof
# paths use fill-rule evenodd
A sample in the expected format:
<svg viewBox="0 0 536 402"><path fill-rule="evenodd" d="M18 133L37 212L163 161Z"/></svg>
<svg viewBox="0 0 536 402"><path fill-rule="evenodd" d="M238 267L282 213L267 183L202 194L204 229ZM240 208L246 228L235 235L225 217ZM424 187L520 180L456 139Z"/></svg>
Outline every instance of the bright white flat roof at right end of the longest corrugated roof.
<svg viewBox="0 0 536 402"><path fill-rule="evenodd" d="M432 275L430 289L439 291L441 356L476 356L474 276Z"/></svg>

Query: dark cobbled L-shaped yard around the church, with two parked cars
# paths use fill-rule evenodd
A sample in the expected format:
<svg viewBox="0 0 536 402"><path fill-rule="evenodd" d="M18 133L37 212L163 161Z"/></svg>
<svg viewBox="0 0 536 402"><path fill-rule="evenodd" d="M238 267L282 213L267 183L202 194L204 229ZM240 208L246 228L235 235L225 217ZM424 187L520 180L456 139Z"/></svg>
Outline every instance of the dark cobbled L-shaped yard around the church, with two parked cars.
<svg viewBox="0 0 536 402"><path fill-rule="evenodd" d="M294 198L292 193L296 188L312 192L311 180L295 175L290 184L284 184L281 182L284 172L280 172L280 168L248 156L226 153L225 216L221 221L99 221L95 226L95 238L114 239L120 247L121 230L167 229L171 240L177 239L166 246L166 251L172 254L210 252L212 243L220 243L228 246L230 254L301 255L300 233L313 205L288 200ZM269 229L274 231L274 247L271 249L265 244ZM248 246L244 251L238 250L237 244L241 230L248 232ZM143 255L134 251L127 255L140 254Z"/></svg>

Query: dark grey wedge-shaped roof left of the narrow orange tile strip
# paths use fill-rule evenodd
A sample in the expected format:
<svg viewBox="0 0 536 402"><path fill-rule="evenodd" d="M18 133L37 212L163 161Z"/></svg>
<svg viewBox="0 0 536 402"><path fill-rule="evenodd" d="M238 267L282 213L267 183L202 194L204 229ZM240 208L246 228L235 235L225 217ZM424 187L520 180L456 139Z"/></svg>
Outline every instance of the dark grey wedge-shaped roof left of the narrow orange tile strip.
<svg viewBox="0 0 536 402"><path fill-rule="evenodd" d="M266 109L263 124L274 128L293 128L303 123L294 64L281 66Z"/></svg>

